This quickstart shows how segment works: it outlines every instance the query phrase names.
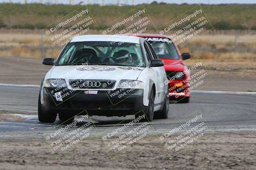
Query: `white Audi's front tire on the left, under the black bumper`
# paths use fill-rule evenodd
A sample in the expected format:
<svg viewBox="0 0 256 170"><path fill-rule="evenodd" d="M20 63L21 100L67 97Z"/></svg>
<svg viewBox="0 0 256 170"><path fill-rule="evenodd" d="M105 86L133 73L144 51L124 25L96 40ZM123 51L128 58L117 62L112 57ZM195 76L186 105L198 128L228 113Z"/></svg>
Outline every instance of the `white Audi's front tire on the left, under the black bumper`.
<svg viewBox="0 0 256 170"><path fill-rule="evenodd" d="M44 107L42 107L40 96L38 98L38 120L42 123L53 123L55 122L57 117L56 113L52 113L51 111L45 111Z"/></svg>

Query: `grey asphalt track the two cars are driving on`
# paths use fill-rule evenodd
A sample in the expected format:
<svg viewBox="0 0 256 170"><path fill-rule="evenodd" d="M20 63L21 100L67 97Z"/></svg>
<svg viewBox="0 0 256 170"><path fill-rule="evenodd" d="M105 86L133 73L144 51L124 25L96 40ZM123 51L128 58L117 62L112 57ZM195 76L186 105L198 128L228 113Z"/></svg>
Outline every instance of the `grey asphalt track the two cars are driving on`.
<svg viewBox="0 0 256 170"><path fill-rule="evenodd" d="M0 84L0 111L10 115L19 115L24 118L16 122L0 122L1 138L24 134L36 136L36 134L49 131L50 127L60 125L60 120L54 124L42 124L37 119L37 85L4 85ZM170 104L169 118L154 120L150 124L152 134L161 134L170 129L188 122L196 115L202 114L207 123L207 131L214 133L256 131L256 93L250 92L192 92L191 101L187 104ZM95 134L115 129L134 118L129 117L90 117L94 123ZM119 124L121 121L122 124ZM42 135L42 134L41 134Z"/></svg>

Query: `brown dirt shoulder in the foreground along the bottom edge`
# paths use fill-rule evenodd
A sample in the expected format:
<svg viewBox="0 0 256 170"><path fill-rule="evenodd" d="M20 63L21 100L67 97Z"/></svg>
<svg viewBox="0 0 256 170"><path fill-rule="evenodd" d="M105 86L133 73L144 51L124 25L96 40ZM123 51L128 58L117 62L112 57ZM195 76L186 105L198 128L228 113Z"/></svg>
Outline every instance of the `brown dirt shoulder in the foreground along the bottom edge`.
<svg viewBox="0 0 256 170"><path fill-rule="evenodd" d="M205 134L180 152L168 151L148 136L109 152L100 138L88 138L72 150L51 152L42 141L0 141L0 169L255 169L255 134Z"/></svg>

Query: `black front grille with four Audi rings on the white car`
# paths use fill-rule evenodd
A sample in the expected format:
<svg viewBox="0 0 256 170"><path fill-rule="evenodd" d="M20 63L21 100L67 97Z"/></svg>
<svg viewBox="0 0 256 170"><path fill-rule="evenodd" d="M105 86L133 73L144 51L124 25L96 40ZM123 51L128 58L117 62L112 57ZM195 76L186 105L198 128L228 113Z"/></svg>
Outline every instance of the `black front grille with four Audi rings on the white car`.
<svg viewBox="0 0 256 170"><path fill-rule="evenodd" d="M72 89L113 89L115 80L69 80Z"/></svg>

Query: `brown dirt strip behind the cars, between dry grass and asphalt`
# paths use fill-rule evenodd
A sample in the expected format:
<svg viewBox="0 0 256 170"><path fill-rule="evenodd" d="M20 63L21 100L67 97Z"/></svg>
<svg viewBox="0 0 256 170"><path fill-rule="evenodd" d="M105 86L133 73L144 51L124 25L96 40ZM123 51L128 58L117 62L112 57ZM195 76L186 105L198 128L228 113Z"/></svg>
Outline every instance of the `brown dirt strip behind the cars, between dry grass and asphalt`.
<svg viewBox="0 0 256 170"><path fill-rule="evenodd" d="M186 62L193 66L195 60ZM256 91L256 66L250 63L240 65L230 62L214 63L214 61L202 61L208 75L204 78L204 84L193 90L223 90L248 92ZM0 57L0 83L35 84L40 85L45 73L51 66L42 65L39 59L24 59L18 57Z"/></svg>

